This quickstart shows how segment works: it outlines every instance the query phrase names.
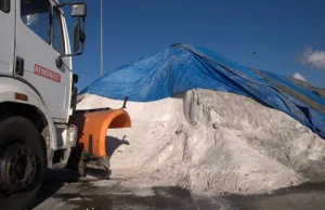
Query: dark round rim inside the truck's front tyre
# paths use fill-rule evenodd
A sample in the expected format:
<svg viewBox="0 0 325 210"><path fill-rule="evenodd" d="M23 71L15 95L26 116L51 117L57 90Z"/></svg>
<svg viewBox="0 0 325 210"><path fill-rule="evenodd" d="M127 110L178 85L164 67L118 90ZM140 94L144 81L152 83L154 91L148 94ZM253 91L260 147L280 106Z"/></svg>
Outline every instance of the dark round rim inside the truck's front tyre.
<svg viewBox="0 0 325 210"><path fill-rule="evenodd" d="M25 143L15 141L0 153L0 191L13 195L28 188L36 176L36 155Z"/></svg>

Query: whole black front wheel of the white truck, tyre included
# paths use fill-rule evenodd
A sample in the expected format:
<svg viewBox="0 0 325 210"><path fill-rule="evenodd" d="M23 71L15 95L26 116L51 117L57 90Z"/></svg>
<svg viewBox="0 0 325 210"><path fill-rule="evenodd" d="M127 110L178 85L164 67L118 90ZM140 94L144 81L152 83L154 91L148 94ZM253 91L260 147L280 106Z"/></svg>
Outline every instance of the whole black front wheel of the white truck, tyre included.
<svg viewBox="0 0 325 210"><path fill-rule="evenodd" d="M26 118L0 122L0 209L25 210L35 204L44 171L44 148Z"/></svg>

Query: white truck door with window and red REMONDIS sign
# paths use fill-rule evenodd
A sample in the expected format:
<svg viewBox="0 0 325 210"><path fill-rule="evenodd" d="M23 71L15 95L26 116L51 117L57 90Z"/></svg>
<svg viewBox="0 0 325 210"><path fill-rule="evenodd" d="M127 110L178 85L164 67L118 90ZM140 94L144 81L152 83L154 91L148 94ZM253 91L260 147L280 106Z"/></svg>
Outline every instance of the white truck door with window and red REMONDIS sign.
<svg viewBox="0 0 325 210"><path fill-rule="evenodd" d="M16 60L14 74L34 86L56 122L68 119L72 66L65 53L62 14L48 0L16 1Z"/></svg>

